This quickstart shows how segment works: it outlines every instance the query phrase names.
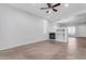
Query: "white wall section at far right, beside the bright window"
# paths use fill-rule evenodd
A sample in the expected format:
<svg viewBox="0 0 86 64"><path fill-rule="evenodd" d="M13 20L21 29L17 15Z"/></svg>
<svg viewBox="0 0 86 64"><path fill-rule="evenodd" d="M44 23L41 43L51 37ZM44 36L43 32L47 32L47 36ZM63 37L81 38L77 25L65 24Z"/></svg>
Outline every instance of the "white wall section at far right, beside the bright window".
<svg viewBox="0 0 86 64"><path fill-rule="evenodd" d="M77 27L77 37L86 37L86 24Z"/></svg>

